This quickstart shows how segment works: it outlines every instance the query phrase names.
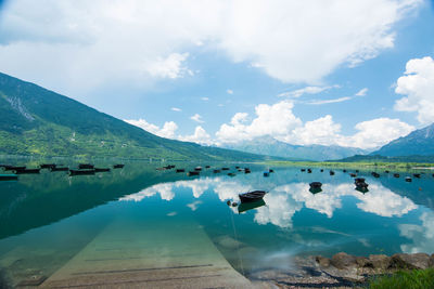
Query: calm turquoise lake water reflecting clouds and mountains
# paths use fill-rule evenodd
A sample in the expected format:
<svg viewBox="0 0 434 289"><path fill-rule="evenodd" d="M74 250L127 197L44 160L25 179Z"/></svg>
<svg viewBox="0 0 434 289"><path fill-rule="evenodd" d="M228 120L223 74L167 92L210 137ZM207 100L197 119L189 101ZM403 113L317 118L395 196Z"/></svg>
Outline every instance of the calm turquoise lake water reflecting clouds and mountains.
<svg viewBox="0 0 434 289"><path fill-rule="evenodd" d="M192 169L196 163L175 165ZM411 183L404 178L412 172L395 179L392 172L379 171L381 178L374 179L370 171L361 171L359 176L369 183L369 192L362 194L348 175L352 170L335 170L331 176L317 168L310 174L295 167L275 168L264 178L267 167L248 165L252 173L244 174L234 167L247 165L226 163L237 173L231 178L225 171L213 173L224 166L219 163L189 178L173 170L156 171L159 166L129 162L122 170L73 178L42 171L20 175L17 182L0 182L2 274L15 284L33 274L50 276L107 235L118 237L124 250L133 248L137 238L155 248L167 239L165 246L180 254L197 240L194 247L204 258L217 248L246 276L290 267L296 255L434 252L430 171ZM312 181L323 183L322 192L309 192ZM239 193L253 189L269 191L265 206L239 213L238 207L227 205L239 201ZM196 233L199 237L192 235ZM158 252L149 258L163 258Z"/></svg>

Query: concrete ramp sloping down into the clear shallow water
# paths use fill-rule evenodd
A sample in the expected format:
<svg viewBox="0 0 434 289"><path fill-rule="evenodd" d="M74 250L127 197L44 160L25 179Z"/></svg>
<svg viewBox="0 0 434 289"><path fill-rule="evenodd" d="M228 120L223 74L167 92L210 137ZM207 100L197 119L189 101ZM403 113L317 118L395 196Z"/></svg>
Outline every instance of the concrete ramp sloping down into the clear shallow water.
<svg viewBox="0 0 434 289"><path fill-rule="evenodd" d="M253 287L197 223L174 219L159 224L164 227L144 222L112 223L40 287Z"/></svg>

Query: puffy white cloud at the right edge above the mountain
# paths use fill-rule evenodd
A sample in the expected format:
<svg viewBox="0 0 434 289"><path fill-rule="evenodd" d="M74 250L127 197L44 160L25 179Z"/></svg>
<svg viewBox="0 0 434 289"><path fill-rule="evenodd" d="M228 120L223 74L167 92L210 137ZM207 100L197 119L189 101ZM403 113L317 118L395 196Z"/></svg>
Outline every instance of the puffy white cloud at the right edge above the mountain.
<svg viewBox="0 0 434 289"><path fill-rule="evenodd" d="M418 121L434 121L434 60L414 58L407 62L405 75L396 82L395 92L407 95L395 103L398 111L417 111Z"/></svg>

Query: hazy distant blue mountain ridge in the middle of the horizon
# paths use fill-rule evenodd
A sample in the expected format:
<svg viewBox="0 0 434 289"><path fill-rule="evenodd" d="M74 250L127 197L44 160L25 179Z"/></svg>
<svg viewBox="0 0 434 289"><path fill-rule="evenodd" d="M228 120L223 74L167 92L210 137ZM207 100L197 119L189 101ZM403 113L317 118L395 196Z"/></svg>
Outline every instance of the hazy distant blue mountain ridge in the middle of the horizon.
<svg viewBox="0 0 434 289"><path fill-rule="evenodd" d="M292 145L279 142L271 136L256 137L238 144L225 145L226 148L241 152L284 157L293 160L331 160L341 159L366 152L355 147L324 146L324 145Z"/></svg>

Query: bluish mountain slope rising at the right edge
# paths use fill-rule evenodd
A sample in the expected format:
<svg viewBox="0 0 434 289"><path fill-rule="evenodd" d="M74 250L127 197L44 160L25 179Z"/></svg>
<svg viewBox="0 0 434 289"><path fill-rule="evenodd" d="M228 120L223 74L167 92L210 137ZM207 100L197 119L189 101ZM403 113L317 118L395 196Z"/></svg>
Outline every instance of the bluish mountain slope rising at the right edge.
<svg viewBox="0 0 434 289"><path fill-rule="evenodd" d="M434 123L423 129L416 130L410 134L373 152L371 155L381 156L433 156L434 155Z"/></svg>

